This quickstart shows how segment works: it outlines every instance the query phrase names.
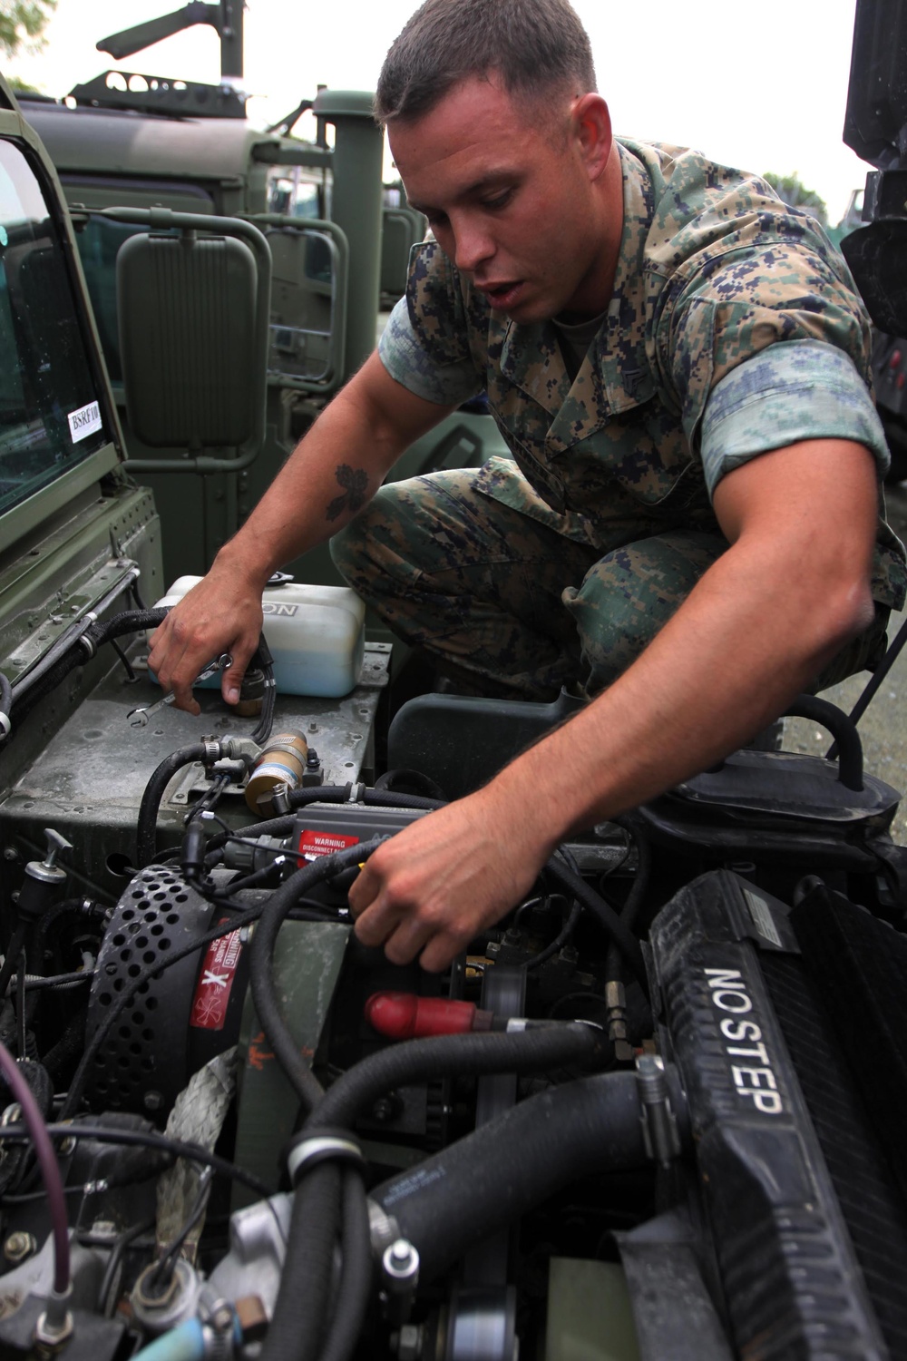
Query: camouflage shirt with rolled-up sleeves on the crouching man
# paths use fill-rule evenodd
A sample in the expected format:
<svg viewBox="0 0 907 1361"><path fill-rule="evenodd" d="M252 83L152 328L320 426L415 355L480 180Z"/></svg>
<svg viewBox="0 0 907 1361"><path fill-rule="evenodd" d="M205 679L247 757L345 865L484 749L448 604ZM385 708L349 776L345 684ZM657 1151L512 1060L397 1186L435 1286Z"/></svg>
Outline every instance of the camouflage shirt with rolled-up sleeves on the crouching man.
<svg viewBox="0 0 907 1361"><path fill-rule="evenodd" d="M437 242L413 250L379 354L430 401L487 393L513 460L491 459L477 487L604 554L719 532L725 472L797 440L857 440L884 471L869 321L813 219L699 152L626 139L619 151L613 294L572 384L551 321L510 321ZM906 587L880 491L873 596L900 608Z"/></svg>

